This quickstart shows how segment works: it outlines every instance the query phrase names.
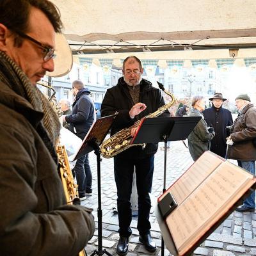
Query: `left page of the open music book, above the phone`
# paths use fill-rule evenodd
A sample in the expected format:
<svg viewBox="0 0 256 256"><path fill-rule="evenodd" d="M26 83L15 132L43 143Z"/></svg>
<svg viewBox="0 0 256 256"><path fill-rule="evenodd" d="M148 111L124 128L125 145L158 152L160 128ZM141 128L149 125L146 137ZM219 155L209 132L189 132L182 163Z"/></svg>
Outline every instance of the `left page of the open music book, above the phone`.
<svg viewBox="0 0 256 256"><path fill-rule="evenodd" d="M181 204L223 161L211 152L205 152L167 191L178 205Z"/></svg>

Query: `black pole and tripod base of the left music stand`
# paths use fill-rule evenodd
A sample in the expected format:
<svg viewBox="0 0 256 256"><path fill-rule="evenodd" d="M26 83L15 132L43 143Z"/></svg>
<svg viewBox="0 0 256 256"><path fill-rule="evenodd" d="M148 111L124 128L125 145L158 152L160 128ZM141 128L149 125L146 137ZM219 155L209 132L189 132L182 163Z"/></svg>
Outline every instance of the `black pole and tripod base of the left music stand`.
<svg viewBox="0 0 256 256"><path fill-rule="evenodd" d="M100 181L100 147L95 141L90 141L90 146L93 148L95 155L97 156L97 184L98 184L98 250L95 250L93 255L106 255L112 256L106 249L102 250L102 209L101 209L101 181Z"/></svg>

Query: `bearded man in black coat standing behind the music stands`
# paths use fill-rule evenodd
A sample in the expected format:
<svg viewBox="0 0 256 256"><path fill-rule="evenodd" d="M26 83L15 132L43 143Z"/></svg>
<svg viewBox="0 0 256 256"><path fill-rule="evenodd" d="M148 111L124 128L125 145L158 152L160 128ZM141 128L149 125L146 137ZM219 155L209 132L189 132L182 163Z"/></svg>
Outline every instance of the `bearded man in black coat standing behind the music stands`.
<svg viewBox="0 0 256 256"><path fill-rule="evenodd" d="M102 101L101 115L107 116L118 111L111 129L111 135L130 127L143 116L153 113L164 105L164 99L159 89L152 83L142 79L143 68L136 56L129 56L123 63L123 77L113 88L107 90ZM169 116L170 113L164 113ZM164 115L163 114L163 115ZM135 129L131 135L134 136ZM134 166L136 168L136 183L138 190L138 231L140 241L150 252L156 251L156 243L150 236L149 214L151 202L149 194L152 188L154 172L154 154L157 143L149 143L145 148L131 147L114 157L114 172L117 188L117 207L119 220L119 241L116 247L118 255L128 252L129 236L131 236L131 190Z"/></svg>

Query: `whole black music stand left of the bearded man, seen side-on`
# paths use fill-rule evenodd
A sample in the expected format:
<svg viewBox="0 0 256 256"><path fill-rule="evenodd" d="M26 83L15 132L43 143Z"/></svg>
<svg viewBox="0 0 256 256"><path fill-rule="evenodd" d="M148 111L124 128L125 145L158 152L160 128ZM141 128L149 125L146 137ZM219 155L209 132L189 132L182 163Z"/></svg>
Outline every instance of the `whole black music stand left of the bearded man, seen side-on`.
<svg viewBox="0 0 256 256"><path fill-rule="evenodd" d="M86 137L83 140L81 147L79 148L74 160L77 158L88 154L94 150L95 155L97 156L97 184L98 184L98 250L95 250L93 255L103 255L106 253L108 256L112 256L106 249L102 250L102 209L101 209L101 182L100 182L100 144L108 134L111 125L113 124L115 115L105 116L99 118L91 127L91 129L86 134ZM73 160L73 161L74 161Z"/></svg>

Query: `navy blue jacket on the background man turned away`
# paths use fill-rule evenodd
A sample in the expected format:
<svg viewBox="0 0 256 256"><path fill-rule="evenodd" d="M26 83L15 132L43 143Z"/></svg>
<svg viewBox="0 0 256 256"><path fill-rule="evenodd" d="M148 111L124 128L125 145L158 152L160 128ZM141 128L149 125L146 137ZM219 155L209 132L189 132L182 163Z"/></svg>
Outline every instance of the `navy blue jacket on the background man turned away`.
<svg viewBox="0 0 256 256"><path fill-rule="evenodd" d="M70 131L84 139L94 121L94 104L88 88L79 90L73 103L72 114L66 116Z"/></svg>

